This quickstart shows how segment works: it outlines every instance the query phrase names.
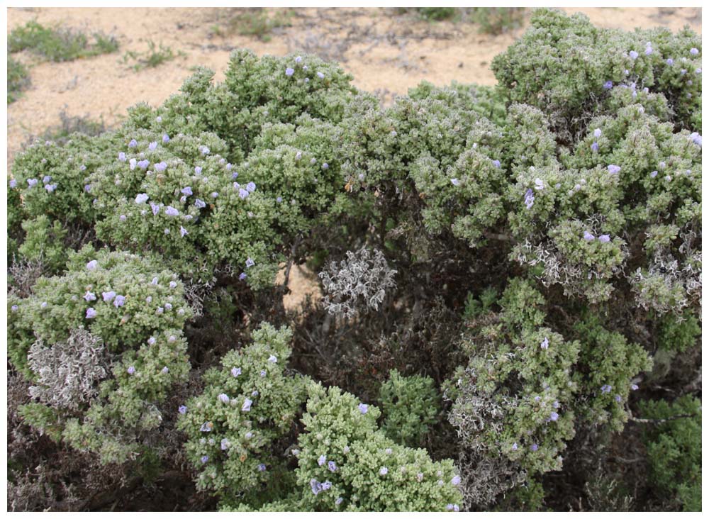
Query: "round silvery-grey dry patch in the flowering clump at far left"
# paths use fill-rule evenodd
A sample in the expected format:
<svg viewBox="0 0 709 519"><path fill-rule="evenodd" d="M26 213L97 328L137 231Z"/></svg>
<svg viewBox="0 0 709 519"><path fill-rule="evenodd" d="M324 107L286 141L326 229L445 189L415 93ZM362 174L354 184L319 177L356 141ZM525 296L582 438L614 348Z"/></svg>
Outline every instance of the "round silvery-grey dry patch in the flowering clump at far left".
<svg viewBox="0 0 709 519"><path fill-rule="evenodd" d="M72 330L66 341L50 347L37 340L27 358L38 381L30 396L57 408L78 409L90 401L108 374L104 343L86 330Z"/></svg>

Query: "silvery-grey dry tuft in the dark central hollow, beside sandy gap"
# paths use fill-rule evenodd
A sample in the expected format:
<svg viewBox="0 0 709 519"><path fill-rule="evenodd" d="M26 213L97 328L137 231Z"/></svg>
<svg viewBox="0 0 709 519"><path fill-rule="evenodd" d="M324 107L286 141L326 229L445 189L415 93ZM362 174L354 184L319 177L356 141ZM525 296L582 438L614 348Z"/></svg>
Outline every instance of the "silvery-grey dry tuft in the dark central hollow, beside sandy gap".
<svg viewBox="0 0 709 519"><path fill-rule="evenodd" d="M371 252L362 247L357 252L347 251L347 259L330 263L320 272L325 297L323 303L329 313L352 318L358 309L379 309L386 289L396 287L396 270L390 269L380 250Z"/></svg>

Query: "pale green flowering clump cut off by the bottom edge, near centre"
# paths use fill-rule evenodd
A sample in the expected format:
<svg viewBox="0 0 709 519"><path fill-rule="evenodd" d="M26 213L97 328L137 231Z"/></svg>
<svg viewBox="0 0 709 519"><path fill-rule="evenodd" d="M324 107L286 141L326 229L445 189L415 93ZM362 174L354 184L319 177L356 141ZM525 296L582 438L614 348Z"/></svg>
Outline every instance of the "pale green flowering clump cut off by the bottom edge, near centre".
<svg viewBox="0 0 709 519"><path fill-rule="evenodd" d="M379 409L339 388L311 384L298 437L298 510L457 510L459 476L376 426ZM302 490L301 490L302 489Z"/></svg>

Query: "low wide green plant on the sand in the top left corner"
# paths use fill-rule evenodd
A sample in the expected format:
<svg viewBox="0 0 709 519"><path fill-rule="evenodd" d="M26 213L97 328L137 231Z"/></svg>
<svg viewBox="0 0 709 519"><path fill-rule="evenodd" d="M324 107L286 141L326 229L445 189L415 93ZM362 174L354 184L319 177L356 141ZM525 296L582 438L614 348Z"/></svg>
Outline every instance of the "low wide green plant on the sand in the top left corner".
<svg viewBox="0 0 709 519"><path fill-rule="evenodd" d="M8 50L30 50L47 60L62 62L116 52L118 41L101 33L94 33L91 40L81 31L45 27L33 20L11 30L8 35Z"/></svg>

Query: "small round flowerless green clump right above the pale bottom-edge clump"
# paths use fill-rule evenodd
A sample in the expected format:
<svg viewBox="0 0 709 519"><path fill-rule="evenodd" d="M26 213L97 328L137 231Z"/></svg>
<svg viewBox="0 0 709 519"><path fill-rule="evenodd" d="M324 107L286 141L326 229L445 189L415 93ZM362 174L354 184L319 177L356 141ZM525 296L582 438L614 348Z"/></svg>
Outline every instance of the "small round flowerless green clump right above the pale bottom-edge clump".
<svg viewBox="0 0 709 519"><path fill-rule="evenodd" d="M418 447L440 411L440 395L429 376L402 376L396 369L379 389L381 430L401 445Z"/></svg>

